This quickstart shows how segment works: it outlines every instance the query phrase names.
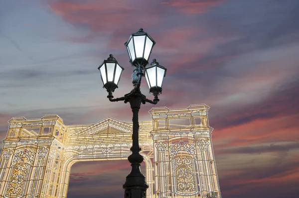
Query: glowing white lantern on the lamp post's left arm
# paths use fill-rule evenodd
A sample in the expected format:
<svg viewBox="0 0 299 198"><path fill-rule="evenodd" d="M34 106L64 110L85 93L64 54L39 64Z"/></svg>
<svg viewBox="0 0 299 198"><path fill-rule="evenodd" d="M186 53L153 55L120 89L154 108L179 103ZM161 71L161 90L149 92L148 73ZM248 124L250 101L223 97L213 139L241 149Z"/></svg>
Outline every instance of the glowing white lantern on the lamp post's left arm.
<svg viewBox="0 0 299 198"><path fill-rule="evenodd" d="M118 88L118 83L121 78L121 74L124 68L118 63L118 61L110 54L107 60L104 60L98 67L101 72L101 78L103 81L103 88L105 87L108 92L114 92Z"/></svg>

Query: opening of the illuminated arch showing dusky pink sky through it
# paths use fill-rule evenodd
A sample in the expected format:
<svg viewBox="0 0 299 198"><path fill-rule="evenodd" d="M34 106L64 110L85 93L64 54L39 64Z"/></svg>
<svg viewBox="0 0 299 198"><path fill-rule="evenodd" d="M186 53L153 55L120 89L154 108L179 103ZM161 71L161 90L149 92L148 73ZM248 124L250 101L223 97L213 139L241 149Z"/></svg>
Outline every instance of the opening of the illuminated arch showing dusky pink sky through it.
<svg viewBox="0 0 299 198"><path fill-rule="evenodd" d="M147 165L141 164L146 175ZM76 161L70 169L67 198L82 198L88 192L89 198L123 197L126 176L131 172L127 160Z"/></svg>

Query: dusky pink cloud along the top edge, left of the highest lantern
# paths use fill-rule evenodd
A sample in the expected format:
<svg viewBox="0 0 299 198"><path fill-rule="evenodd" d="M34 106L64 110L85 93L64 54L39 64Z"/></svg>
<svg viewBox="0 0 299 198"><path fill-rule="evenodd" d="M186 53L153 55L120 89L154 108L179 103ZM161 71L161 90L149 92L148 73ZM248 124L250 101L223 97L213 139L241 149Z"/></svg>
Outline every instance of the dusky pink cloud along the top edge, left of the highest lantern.
<svg viewBox="0 0 299 198"><path fill-rule="evenodd" d="M83 27L90 30L89 34L84 37L66 37L73 42L92 42L101 36L119 33L123 35L127 32L130 35L134 28L134 31L137 31L141 26L153 27L158 24L159 18L159 10L154 9L153 6L153 3L141 3L135 0L91 0L84 2L57 0L54 3L49 3L49 8L62 16L65 21L77 28ZM136 20L137 17L138 20ZM122 44L125 42L124 40L121 41ZM108 47L113 48L115 45L119 48L119 42L111 39Z"/></svg>

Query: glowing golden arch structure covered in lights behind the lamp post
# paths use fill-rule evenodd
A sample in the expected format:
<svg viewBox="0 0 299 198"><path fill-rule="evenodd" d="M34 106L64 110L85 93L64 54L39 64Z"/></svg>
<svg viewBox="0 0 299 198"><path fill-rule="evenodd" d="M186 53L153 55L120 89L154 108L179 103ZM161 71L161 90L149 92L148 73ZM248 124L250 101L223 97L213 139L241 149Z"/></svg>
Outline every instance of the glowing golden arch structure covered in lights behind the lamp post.
<svg viewBox="0 0 299 198"><path fill-rule="evenodd" d="M152 108L152 120L139 122L147 198L221 198L208 109L204 104ZM74 163L127 159L131 154L132 122L106 118L67 126L57 115L8 122L0 198L66 198Z"/></svg>

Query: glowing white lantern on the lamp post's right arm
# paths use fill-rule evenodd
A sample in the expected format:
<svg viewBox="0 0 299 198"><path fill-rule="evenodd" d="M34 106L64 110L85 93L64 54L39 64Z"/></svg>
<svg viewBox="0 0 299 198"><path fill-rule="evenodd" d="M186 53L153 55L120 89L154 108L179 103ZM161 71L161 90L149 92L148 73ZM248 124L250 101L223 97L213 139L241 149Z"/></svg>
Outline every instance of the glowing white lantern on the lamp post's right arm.
<svg viewBox="0 0 299 198"><path fill-rule="evenodd" d="M159 65L156 59L152 59L146 67L145 76L149 85L149 92L158 95L162 92L162 82L166 74L166 68Z"/></svg>

